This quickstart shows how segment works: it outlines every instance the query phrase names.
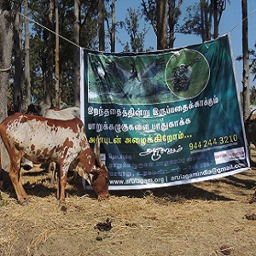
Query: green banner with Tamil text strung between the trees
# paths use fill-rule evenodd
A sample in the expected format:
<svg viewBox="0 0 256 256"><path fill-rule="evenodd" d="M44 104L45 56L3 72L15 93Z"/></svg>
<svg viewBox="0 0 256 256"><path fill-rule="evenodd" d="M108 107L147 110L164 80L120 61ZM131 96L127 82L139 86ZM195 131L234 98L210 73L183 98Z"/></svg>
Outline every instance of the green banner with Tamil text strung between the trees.
<svg viewBox="0 0 256 256"><path fill-rule="evenodd" d="M81 118L109 189L150 189L249 168L230 36L147 53L81 49Z"/></svg>

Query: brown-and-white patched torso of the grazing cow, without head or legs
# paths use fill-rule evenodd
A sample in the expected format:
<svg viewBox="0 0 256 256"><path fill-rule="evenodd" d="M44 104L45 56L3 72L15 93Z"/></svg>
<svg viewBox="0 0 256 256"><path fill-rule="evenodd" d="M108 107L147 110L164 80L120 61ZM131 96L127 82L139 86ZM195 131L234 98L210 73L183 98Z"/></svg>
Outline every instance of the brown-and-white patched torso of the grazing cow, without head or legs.
<svg viewBox="0 0 256 256"><path fill-rule="evenodd" d="M69 154L77 156L81 145L86 147L88 143L84 125L77 118L47 119L15 113L3 120L0 134L9 147L22 150L23 155L35 163L57 160L62 154L67 154L67 150Z"/></svg>

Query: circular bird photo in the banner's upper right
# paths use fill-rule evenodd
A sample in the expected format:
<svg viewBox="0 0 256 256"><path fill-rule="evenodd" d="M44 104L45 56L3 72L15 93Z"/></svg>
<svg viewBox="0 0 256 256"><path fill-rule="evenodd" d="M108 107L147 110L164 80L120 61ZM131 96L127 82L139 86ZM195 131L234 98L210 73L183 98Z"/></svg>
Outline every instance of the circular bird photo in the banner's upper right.
<svg viewBox="0 0 256 256"><path fill-rule="evenodd" d="M206 88L209 76L207 59L196 50L182 49L166 65L166 84L182 98L198 96Z"/></svg>

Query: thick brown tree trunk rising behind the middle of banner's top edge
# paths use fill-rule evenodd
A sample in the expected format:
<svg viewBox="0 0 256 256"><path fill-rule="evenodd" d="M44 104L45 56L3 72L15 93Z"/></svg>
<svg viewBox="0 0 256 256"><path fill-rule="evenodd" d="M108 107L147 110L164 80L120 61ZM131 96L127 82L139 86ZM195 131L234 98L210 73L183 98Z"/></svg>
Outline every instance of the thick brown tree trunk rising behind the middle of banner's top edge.
<svg viewBox="0 0 256 256"><path fill-rule="evenodd" d="M157 49L167 49L167 1L157 1Z"/></svg>

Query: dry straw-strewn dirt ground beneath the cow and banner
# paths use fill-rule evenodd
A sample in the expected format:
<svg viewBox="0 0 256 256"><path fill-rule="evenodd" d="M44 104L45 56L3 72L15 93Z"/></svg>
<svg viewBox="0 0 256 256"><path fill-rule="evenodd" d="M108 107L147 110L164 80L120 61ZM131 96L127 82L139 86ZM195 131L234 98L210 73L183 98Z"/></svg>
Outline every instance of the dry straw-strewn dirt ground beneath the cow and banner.
<svg viewBox="0 0 256 256"><path fill-rule="evenodd" d="M20 206L12 187L2 192L0 255L254 256L255 170L166 189L110 191L108 201L70 177L66 213L44 170L23 171L31 201Z"/></svg>

